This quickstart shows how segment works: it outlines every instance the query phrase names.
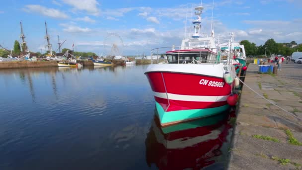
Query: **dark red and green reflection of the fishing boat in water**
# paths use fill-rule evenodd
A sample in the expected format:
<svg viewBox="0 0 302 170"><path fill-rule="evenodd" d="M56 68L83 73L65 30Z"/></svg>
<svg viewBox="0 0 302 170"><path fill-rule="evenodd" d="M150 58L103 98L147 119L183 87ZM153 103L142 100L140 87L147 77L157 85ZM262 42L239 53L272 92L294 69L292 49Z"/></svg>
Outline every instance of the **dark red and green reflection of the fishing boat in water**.
<svg viewBox="0 0 302 170"><path fill-rule="evenodd" d="M214 164L226 161L219 157L228 152L222 151L222 146L229 145L227 137L232 130L230 120L234 111L167 127L161 127L155 115L145 141L149 167L155 164L160 170L224 169L224 165L218 168Z"/></svg>

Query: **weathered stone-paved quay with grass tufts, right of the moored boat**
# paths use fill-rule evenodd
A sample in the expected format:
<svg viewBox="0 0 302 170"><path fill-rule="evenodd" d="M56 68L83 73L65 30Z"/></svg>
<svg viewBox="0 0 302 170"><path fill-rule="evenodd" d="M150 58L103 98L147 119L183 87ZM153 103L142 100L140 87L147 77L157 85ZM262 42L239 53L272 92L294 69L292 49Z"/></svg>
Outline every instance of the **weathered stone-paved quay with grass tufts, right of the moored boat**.
<svg viewBox="0 0 302 170"><path fill-rule="evenodd" d="M245 84L265 99L243 86L228 169L301 170L302 65L283 64L268 75L250 64Z"/></svg>

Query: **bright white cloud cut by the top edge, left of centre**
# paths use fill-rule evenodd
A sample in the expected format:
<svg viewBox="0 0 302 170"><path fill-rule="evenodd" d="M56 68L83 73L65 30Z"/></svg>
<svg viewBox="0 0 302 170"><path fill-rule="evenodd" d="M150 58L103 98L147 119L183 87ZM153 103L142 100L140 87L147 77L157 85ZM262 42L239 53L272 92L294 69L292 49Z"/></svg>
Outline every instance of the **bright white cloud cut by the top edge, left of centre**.
<svg viewBox="0 0 302 170"><path fill-rule="evenodd" d="M64 3L74 7L74 10L87 11L92 15L99 15L99 3L96 0L63 0Z"/></svg>

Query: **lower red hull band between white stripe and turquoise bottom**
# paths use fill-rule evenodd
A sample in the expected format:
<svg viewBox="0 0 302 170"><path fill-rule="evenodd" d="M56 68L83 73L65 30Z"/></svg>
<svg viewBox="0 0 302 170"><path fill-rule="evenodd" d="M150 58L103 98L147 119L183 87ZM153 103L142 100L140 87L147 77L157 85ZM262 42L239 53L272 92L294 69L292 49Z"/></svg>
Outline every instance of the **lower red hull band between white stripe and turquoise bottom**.
<svg viewBox="0 0 302 170"><path fill-rule="evenodd" d="M164 110L168 106L168 99L159 98L154 96L155 101L157 101ZM189 109L204 109L220 107L227 104L227 101L218 102L202 102L202 101L181 101L181 100L171 100L169 99L170 106L167 111L178 111L178 110L189 110Z"/></svg>

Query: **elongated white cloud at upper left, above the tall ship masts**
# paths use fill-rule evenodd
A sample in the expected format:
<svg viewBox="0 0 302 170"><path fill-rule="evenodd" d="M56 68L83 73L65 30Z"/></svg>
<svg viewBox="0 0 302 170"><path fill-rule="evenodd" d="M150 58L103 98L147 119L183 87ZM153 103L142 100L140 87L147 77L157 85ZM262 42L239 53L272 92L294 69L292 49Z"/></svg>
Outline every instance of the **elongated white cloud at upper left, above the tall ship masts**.
<svg viewBox="0 0 302 170"><path fill-rule="evenodd" d="M23 8L24 11L26 12L33 12L33 13L39 13L45 16L49 16L49 17L53 17L53 18L59 18L59 19L66 19L69 18L69 16L58 10L58 9L54 9L54 8L46 8L44 6L41 5L25 5L25 7Z"/></svg>

